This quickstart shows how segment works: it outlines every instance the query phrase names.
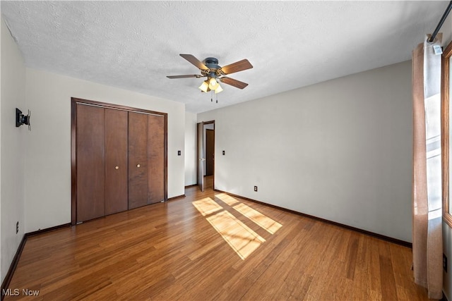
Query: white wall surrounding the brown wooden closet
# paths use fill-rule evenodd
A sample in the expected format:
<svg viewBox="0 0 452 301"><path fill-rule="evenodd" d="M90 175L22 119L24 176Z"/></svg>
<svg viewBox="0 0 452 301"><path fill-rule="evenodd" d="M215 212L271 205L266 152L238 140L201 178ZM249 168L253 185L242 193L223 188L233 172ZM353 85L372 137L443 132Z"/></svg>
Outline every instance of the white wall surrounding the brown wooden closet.
<svg viewBox="0 0 452 301"><path fill-rule="evenodd" d="M184 195L184 104L27 68L25 232L71 221L71 97L168 113L168 197Z"/></svg>

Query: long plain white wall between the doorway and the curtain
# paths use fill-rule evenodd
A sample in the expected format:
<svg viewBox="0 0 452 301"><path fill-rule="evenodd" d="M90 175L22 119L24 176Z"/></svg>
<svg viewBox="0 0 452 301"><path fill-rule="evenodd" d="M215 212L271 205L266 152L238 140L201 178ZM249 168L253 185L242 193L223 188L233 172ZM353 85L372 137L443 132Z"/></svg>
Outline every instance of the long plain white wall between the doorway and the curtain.
<svg viewBox="0 0 452 301"><path fill-rule="evenodd" d="M199 113L215 188L411 242L411 99L407 61Z"/></svg>

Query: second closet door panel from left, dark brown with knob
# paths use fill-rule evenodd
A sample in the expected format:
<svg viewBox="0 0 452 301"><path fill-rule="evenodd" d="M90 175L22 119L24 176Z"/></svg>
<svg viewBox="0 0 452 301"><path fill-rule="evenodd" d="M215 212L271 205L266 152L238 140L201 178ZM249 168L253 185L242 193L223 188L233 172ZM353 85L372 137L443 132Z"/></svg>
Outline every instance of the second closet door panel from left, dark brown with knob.
<svg viewBox="0 0 452 301"><path fill-rule="evenodd" d="M105 215L129 208L128 113L105 109Z"/></svg>

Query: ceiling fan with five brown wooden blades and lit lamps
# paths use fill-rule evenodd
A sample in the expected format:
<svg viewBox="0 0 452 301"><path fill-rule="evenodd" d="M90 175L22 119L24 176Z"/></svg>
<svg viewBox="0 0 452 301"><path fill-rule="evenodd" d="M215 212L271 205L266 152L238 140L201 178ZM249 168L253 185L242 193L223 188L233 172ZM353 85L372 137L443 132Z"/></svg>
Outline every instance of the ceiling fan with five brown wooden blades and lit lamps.
<svg viewBox="0 0 452 301"><path fill-rule="evenodd" d="M203 63L191 54L180 54L180 56L182 56L190 63L194 64L194 66L198 67L199 70L201 70L201 74L168 75L167 78L207 78L207 80L204 80L201 86L199 86L199 89L201 89L202 92L222 92L222 87L220 86L220 83L218 81L223 82L227 85L232 85L239 89L244 89L244 87L248 85L246 82L234 80L234 78L228 78L225 75L253 68L253 66L247 59L243 59L242 61L237 61L235 63L231 63L230 65L220 67L218 66L218 59L215 58L207 58Z"/></svg>

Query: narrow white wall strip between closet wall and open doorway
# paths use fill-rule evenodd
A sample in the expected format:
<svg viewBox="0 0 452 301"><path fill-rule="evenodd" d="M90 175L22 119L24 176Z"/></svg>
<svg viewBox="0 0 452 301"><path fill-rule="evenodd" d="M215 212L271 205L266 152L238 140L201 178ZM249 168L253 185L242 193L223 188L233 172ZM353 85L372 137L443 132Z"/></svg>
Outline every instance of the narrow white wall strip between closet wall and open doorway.
<svg viewBox="0 0 452 301"><path fill-rule="evenodd" d="M196 184L196 114L185 113L185 185Z"/></svg>

